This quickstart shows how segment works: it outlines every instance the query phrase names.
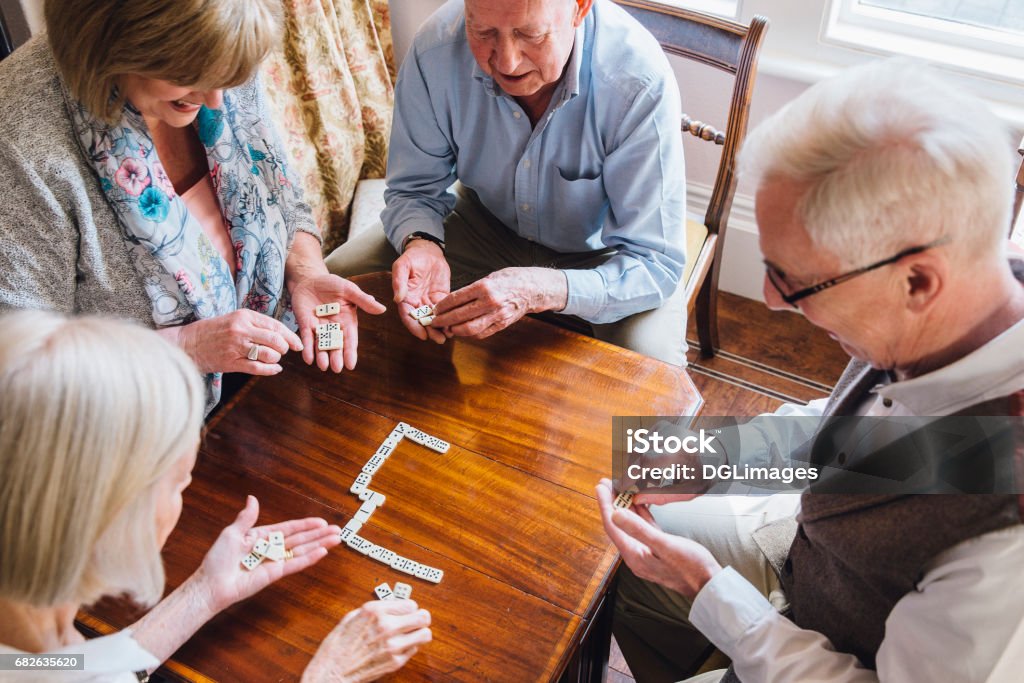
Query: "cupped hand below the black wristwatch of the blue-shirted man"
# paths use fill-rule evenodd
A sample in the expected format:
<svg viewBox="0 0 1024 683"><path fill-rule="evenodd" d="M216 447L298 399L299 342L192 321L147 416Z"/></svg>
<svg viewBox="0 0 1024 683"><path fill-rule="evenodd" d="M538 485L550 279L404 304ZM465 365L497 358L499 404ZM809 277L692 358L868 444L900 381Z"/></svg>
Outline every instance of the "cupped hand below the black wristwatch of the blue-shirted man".
<svg viewBox="0 0 1024 683"><path fill-rule="evenodd" d="M398 304L398 317L417 339L430 339L443 344L447 337L433 327L420 325L410 313L420 306L433 306L447 296L452 288L452 270L444 252L432 242L414 240L391 266L391 287Z"/></svg>

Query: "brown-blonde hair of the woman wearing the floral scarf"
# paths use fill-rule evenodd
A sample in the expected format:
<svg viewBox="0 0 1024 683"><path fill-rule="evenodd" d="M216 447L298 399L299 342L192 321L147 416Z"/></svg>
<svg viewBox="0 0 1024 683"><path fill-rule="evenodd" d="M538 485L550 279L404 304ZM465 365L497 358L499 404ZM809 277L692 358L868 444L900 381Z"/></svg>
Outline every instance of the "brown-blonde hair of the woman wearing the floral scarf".
<svg viewBox="0 0 1024 683"><path fill-rule="evenodd" d="M65 85L113 123L118 79L134 74L197 90L245 83L280 38L281 0L45 0Z"/></svg>

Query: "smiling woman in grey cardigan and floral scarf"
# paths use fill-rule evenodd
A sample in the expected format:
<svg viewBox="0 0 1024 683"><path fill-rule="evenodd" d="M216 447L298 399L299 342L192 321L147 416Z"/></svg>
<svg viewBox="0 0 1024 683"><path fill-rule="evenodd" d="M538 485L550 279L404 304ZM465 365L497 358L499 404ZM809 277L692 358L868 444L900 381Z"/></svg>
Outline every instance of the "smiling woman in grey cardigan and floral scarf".
<svg viewBox="0 0 1024 683"><path fill-rule="evenodd" d="M46 0L46 35L0 62L0 310L157 328L207 375L207 411L222 373L290 349L355 367L356 309L384 306L328 273L289 179L255 76L280 4ZM315 349L324 322L343 350Z"/></svg>

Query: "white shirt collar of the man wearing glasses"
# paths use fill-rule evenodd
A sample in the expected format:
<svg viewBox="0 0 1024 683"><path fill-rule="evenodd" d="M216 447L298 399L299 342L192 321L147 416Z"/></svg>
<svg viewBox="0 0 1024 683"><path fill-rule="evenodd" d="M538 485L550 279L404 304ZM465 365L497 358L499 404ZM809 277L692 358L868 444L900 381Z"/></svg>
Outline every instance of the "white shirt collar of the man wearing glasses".
<svg viewBox="0 0 1024 683"><path fill-rule="evenodd" d="M877 387L909 414L943 416L1007 396L1024 387L1024 321L963 358L903 382Z"/></svg>

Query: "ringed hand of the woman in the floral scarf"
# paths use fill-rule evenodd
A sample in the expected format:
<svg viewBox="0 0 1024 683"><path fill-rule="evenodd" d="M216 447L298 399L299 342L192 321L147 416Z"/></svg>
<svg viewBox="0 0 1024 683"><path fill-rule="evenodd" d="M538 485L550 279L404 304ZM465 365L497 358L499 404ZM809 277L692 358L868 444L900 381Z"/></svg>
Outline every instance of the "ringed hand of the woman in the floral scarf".
<svg viewBox="0 0 1024 683"><path fill-rule="evenodd" d="M289 349L302 350L302 342L284 323L248 308L158 332L180 346L203 373L276 375L281 356ZM259 355L250 360L254 344Z"/></svg>

